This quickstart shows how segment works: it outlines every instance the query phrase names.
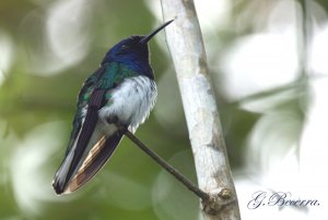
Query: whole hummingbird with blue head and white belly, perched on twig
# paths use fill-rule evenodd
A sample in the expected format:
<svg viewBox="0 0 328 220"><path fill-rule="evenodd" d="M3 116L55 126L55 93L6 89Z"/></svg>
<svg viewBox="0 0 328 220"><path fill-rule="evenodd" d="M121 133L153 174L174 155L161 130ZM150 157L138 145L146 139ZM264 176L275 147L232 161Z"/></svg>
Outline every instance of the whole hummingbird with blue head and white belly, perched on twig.
<svg viewBox="0 0 328 220"><path fill-rule="evenodd" d="M122 138L118 124L136 132L157 96L148 42L173 20L145 36L130 36L110 48L78 96L70 140L52 181L57 195L90 181Z"/></svg>

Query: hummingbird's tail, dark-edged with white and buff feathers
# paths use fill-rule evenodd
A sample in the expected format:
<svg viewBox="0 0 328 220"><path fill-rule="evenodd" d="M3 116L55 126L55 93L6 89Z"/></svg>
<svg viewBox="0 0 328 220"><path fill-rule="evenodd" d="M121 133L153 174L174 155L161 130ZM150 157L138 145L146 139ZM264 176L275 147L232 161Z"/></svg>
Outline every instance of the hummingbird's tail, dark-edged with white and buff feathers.
<svg viewBox="0 0 328 220"><path fill-rule="evenodd" d="M80 135L78 136L78 140L55 174L52 187L56 194L77 191L91 180L109 159L122 135L115 131L112 135L105 136L99 130L97 125L85 147L79 145Z"/></svg>

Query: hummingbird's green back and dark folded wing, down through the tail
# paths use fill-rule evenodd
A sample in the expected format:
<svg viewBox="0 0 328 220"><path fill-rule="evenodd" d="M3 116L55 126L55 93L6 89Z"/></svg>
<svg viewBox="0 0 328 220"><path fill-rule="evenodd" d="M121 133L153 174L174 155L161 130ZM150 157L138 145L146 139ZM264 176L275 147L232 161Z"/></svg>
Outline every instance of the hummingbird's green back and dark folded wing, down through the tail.
<svg viewBox="0 0 328 220"><path fill-rule="evenodd" d="M98 110L108 101L106 93L124 80L117 66L119 64L99 69L87 78L79 94L70 144L52 182L57 194L84 185L105 164L121 139L122 135L115 130L104 134L103 122L98 122Z"/></svg>

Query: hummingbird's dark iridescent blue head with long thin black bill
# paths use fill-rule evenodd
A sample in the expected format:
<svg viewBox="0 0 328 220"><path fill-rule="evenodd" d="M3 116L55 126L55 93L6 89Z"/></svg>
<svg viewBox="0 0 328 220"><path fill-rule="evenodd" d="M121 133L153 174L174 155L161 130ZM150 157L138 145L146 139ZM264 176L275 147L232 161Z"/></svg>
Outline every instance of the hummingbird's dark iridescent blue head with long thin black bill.
<svg viewBox="0 0 328 220"><path fill-rule="evenodd" d="M128 65L131 70L153 78L154 75L150 65L148 42L153 36L172 22L173 20L164 23L147 36L130 36L119 41L109 49L102 64L121 62Z"/></svg>

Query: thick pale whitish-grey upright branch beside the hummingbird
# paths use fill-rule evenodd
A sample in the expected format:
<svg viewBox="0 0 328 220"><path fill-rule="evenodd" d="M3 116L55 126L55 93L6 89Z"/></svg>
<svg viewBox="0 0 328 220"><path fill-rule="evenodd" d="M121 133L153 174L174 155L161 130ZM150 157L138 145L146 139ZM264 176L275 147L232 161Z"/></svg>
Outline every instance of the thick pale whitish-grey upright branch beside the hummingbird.
<svg viewBox="0 0 328 220"><path fill-rule="evenodd" d="M209 80L206 51L192 0L161 0L166 40L174 61L191 142L206 220L239 219L237 196Z"/></svg>

